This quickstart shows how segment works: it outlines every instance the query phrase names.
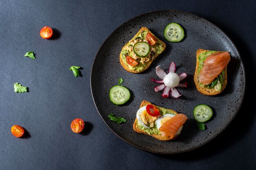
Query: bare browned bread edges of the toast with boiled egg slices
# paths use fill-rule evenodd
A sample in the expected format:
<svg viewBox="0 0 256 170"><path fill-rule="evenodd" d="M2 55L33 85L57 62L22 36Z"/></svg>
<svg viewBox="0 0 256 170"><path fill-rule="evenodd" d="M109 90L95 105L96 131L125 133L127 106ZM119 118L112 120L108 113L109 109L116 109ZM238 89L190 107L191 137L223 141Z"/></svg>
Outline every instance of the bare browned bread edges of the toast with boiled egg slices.
<svg viewBox="0 0 256 170"><path fill-rule="evenodd" d="M139 108L141 108L141 107L143 107L143 106L147 106L148 104L151 104L151 103L148 102L148 101L146 101L146 100L143 100L143 101L141 102L141 105L140 105ZM154 105L154 106L155 106L155 105ZM161 108L161 107L159 107L159 106L157 106L157 107L158 107L158 108ZM168 111L169 111L171 114L173 114L173 115L177 115L177 114L178 114L177 112L175 112L174 110L171 110L171 109L167 109L167 108L162 108L162 109L168 110ZM135 132L143 133L143 134L149 135L146 131L141 130L141 129L138 127L137 124L138 124L138 120L137 120L137 118L136 118L135 121L134 121L134 123L133 123L133 130L134 130ZM183 128L183 126L182 126L182 128ZM181 131L182 131L182 130L181 130ZM180 131L180 133L181 133L181 131ZM180 133L177 134L177 135L175 135L173 138L170 138L170 137L163 137L162 135L158 135L158 134L150 134L150 136L155 137L156 139L161 140L161 141L171 141L171 140L177 138L177 137L180 135Z"/></svg>

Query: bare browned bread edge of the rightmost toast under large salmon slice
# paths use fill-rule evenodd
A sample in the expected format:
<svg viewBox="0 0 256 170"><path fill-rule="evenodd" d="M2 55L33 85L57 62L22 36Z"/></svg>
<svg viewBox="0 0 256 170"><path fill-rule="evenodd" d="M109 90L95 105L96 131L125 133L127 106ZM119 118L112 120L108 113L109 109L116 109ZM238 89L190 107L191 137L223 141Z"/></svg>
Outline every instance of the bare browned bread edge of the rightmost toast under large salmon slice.
<svg viewBox="0 0 256 170"><path fill-rule="evenodd" d="M219 93L221 93L225 87L227 86L227 66L224 68L225 71L225 76L223 78L223 84L221 86L221 90L220 91L216 91L214 88L207 88L207 87L202 87L199 84L199 78L198 78L198 68L199 68L199 59L198 56L204 52L207 52L209 50L204 50L204 49L198 49L198 51L196 51L196 68L195 68L195 75L194 75L194 82L195 82L195 86L198 89L198 91L200 93L202 93L203 95L209 95L209 96L213 96L213 95L218 95Z"/></svg>

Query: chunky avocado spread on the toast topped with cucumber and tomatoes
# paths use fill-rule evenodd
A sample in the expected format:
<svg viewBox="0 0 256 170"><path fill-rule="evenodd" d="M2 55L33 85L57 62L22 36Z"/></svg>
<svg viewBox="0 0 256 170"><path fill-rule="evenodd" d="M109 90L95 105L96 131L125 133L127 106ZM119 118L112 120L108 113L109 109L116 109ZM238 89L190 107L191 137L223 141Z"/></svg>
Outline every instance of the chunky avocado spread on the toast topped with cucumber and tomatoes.
<svg viewBox="0 0 256 170"><path fill-rule="evenodd" d="M146 34L148 33L148 31L143 31L141 33L139 33L138 36L132 38L132 40L130 40L126 46L132 46L133 47L133 44L134 44L134 40L145 40L146 39ZM153 35L153 34L152 34ZM154 49L154 50L153 50ZM152 51L151 51L152 50ZM160 53L162 53L164 51L164 45L162 44L162 42L160 42L158 39L157 39L157 42L154 44L154 45L150 45L150 60L152 60L152 56L153 55L158 55ZM131 66L129 65L127 62L126 62L126 55L129 55L130 57L132 57L132 55L135 55L133 54L134 52L131 50L127 50L127 49L123 49L121 51L121 58L123 60L123 62L131 69L131 70L134 70L134 71L142 71L147 65L148 65L148 62L150 62L150 60L148 62L144 62L144 64L142 64L140 62L141 60L141 57L138 57L137 56L137 62L139 64L137 64L136 66ZM155 59L155 57L154 57Z"/></svg>

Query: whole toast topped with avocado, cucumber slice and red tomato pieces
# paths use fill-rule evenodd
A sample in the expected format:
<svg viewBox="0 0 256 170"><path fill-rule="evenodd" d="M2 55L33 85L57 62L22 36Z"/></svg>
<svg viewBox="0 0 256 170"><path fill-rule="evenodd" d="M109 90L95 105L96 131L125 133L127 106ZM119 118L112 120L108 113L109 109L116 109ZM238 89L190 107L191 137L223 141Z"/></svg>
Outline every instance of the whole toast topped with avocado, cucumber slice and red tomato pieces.
<svg viewBox="0 0 256 170"><path fill-rule="evenodd" d="M165 50L166 45L146 27L130 40L119 55L120 63L126 71L141 73Z"/></svg>

